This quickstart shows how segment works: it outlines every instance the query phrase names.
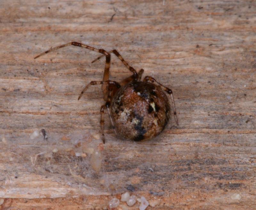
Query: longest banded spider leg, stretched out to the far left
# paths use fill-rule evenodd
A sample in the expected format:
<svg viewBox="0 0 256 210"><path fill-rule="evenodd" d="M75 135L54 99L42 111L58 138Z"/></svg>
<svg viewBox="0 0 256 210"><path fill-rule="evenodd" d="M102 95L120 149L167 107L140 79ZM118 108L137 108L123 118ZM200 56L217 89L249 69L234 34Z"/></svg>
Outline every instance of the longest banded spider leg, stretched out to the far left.
<svg viewBox="0 0 256 210"><path fill-rule="evenodd" d="M106 56L106 63L105 63L105 69L104 69L104 74L103 74L103 79L102 80L107 81L109 79L110 54L104 49L97 49L97 48L94 48L94 47L91 47L89 45L79 43L79 42L76 42L76 41L72 41L72 42L69 42L67 44L63 44L63 45L60 45L58 47L49 49L49 50L41 53L40 55L36 56L34 59L36 59L40 56L43 56L46 53L52 52L54 50L57 50L57 49L60 49L60 48L63 48L63 47L67 47L69 45L90 49L92 51L99 52L99 53L103 54L103 56ZM102 89L103 94L104 94L104 99L106 99L107 98L107 93L108 93L108 86L104 84L104 85L102 85L101 89Z"/></svg>

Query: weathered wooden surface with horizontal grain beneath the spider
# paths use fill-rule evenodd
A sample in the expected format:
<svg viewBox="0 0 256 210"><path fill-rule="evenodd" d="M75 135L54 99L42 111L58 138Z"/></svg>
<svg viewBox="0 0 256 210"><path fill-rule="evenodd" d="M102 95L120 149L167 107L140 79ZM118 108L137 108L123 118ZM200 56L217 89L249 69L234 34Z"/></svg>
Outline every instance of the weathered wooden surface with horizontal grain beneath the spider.
<svg viewBox="0 0 256 210"><path fill-rule="evenodd" d="M147 209L256 209L255 11L255 1L1 1L0 209L102 209L127 188L157 200ZM77 97L104 59L91 64L99 54L78 47L33 59L69 41L117 49L170 87L180 125L172 116L134 143L107 120L96 173L75 153L101 143L102 92ZM130 75L114 56L110 72ZM30 138L42 128L47 140Z"/></svg>

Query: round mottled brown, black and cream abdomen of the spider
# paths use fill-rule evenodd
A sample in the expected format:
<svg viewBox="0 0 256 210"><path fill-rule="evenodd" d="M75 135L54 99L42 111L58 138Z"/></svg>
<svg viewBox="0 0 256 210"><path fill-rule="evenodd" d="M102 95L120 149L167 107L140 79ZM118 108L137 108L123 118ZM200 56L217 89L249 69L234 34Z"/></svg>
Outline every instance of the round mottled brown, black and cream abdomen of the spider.
<svg viewBox="0 0 256 210"><path fill-rule="evenodd" d="M132 81L122 86L110 105L119 138L134 141L154 138L164 130L170 117L170 104L157 85Z"/></svg>

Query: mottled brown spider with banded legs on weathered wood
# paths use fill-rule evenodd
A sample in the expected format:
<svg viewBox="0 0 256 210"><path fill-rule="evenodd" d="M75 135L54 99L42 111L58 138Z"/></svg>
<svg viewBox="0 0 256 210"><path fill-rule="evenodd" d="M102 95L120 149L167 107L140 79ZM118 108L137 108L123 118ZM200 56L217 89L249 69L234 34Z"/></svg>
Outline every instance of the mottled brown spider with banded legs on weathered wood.
<svg viewBox="0 0 256 210"><path fill-rule="evenodd" d="M116 137L119 139L141 141L152 139L160 134L168 123L171 112L169 100L164 92L171 95L173 114L175 116L176 124L179 125L172 90L163 86L157 82L156 79L150 76L146 76L143 81L141 81L141 76L144 70L140 69L140 71L137 72L124 60L116 49L107 52L104 49L96 49L83 43L73 41L49 49L36 56L35 59L53 50L57 50L69 45L90 49L103 54L93 60L92 63L99 60L103 56L106 56L102 81L91 81L84 87L78 97L79 100L88 87L92 85L101 85L105 104L100 108L100 131L104 144L105 109L108 111ZM131 76L125 78L121 82L109 80L111 53L116 55L132 72Z"/></svg>

